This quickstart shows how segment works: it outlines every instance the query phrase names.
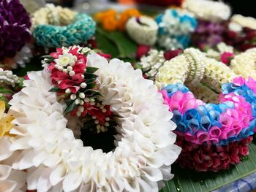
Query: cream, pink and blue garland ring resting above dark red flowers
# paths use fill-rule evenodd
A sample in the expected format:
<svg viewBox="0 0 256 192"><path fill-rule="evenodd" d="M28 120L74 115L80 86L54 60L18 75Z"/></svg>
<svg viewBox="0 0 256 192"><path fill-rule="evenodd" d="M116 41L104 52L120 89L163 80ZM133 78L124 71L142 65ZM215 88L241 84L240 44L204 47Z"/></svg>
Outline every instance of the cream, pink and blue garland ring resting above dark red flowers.
<svg viewBox="0 0 256 192"><path fill-rule="evenodd" d="M165 104L174 114L176 134L189 142L227 145L256 131L256 81L236 77L227 66L206 58L199 50L187 49L166 61L156 82L163 87ZM215 91L222 90L219 104L195 99L184 82L190 87L203 82Z"/></svg>

